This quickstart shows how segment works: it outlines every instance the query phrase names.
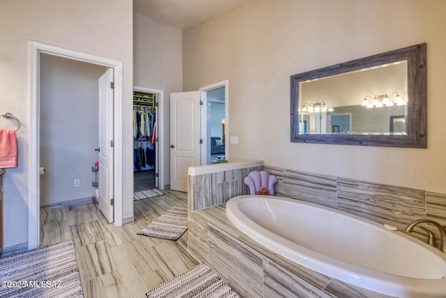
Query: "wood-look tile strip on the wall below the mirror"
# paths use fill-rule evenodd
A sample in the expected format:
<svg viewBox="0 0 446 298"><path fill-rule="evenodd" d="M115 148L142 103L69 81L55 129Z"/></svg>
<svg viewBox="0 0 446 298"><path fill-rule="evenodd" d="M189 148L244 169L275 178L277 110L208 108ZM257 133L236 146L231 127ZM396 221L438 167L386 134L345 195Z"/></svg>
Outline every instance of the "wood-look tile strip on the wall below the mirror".
<svg viewBox="0 0 446 298"><path fill-rule="evenodd" d="M279 167L265 166L264 169L279 179L275 189L279 196L314 202L400 229L424 217L446 225L445 193ZM434 229L432 231L436 232Z"/></svg>

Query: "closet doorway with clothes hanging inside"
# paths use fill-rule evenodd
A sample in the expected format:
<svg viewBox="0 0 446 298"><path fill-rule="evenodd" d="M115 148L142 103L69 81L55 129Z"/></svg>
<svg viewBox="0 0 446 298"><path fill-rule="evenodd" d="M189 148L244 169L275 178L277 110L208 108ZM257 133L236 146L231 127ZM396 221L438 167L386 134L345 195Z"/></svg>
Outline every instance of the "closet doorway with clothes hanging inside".
<svg viewBox="0 0 446 298"><path fill-rule="evenodd" d="M133 191L160 187L160 92L133 91Z"/></svg>

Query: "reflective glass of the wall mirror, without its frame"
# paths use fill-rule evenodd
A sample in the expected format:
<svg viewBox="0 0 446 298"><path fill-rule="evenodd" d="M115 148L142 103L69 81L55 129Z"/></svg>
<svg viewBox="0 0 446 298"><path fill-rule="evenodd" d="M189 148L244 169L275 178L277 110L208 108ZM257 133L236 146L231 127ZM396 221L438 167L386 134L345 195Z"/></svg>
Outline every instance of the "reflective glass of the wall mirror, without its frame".
<svg viewBox="0 0 446 298"><path fill-rule="evenodd" d="M407 60L298 84L299 134L407 133Z"/></svg>

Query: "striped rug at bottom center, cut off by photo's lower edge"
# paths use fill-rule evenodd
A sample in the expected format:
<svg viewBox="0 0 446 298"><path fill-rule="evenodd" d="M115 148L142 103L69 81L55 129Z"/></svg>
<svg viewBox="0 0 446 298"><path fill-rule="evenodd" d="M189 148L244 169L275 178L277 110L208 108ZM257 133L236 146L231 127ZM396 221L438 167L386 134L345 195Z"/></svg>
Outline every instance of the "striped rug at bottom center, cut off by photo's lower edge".
<svg viewBox="0 0 446 298"><path fill-rule="evenodd" d="M208 266L200 264L146 293L148 298L236 298L238 294Z"/></svg>

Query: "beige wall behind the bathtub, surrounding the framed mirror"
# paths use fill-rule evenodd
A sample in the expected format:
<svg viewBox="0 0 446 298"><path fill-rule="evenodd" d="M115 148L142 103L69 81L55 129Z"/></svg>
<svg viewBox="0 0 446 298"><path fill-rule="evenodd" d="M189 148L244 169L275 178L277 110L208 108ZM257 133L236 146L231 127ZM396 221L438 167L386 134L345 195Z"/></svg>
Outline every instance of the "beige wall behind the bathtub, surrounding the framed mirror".
<svg viewBox="0 0 446 298"><path fill-rule="evenodd" d="M445 193L445 13L443 0L252 1L183 33L183 89L229 79L232 161ZM290 142L290 75L424 42L427 149Z"/></svg>

